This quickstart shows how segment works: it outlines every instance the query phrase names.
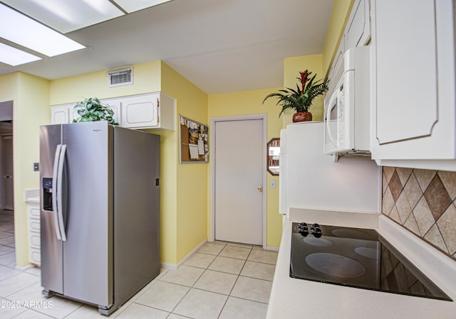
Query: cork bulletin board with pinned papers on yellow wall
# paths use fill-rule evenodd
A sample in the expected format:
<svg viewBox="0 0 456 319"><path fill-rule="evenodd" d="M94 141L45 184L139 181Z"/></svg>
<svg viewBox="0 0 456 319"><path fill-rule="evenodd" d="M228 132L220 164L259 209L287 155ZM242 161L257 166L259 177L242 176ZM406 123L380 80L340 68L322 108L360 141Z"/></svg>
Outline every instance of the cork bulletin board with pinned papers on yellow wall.
<svg viewBox="0 0 456 319"><path fill-rule="evenodd" d="M209 126L179 115L179 163L209 161Z"/></svg>

